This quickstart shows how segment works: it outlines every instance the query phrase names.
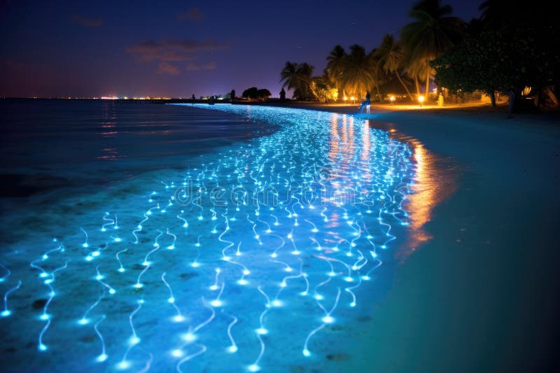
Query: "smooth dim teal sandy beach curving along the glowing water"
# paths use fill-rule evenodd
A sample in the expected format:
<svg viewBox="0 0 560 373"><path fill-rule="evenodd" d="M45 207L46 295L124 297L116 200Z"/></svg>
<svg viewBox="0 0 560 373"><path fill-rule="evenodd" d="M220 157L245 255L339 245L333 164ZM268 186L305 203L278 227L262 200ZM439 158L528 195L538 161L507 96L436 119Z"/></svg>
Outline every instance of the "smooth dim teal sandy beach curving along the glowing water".
<svg viewBox="0 0 560 373"><path fill-rule="evenodd" d="M431 238L396 269L391 292L372 309L373 339L352 346L359 358L338 369L553 370L560 335L558 113L507 119L504 107L372 106L359 116L422 143L436 163L451 167L456 188L434 185L443 194L424 226Z"/></svg>

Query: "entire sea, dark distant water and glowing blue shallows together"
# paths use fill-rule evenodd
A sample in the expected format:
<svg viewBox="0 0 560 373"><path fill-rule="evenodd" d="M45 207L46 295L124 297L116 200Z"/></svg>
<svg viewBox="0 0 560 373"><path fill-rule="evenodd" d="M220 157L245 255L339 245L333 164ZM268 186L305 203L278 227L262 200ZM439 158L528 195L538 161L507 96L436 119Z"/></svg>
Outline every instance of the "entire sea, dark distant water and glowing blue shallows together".
<svg viewBox="0 0 560 373"><path fill-rule="evenodd" d="M1 104L4 371L344 370L426 240L429 153L359 116Z"/></svg>

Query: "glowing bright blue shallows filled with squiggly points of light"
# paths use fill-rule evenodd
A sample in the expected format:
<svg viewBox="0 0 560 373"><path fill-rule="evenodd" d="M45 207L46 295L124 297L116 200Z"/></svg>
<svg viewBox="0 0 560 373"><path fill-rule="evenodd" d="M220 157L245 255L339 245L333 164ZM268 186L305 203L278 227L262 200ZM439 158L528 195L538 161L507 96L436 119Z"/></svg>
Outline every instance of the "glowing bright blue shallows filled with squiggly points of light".
<svg viewBox="0 0 560 373"><path fill-rule="evenodd" d="M351 115L194 106L279 130L161 171L49 241L25 283L44 300L27 315L38 351L88 332L76 353L100 370L267 372L274 354L325 355L374 289L407 225L412 148ZM1 321L22 281L0 268Z"/></svg>

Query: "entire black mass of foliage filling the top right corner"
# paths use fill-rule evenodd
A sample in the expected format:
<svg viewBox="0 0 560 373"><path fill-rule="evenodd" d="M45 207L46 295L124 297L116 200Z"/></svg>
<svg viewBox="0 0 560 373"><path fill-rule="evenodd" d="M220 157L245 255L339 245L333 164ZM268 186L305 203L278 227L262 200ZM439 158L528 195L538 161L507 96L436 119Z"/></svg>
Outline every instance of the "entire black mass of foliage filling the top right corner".
<svg viewBox="0 0 560 373"><path fill-rule="evenodd" d="M560 34L552 9L503 0L486 1L480 9L470 35L431 62L436 83L451 91L484 90L492 104L494 92L510 92L519 104L524 88L531 87L528 92L547 92L557 104L551 87L558 92Z"/></svg>

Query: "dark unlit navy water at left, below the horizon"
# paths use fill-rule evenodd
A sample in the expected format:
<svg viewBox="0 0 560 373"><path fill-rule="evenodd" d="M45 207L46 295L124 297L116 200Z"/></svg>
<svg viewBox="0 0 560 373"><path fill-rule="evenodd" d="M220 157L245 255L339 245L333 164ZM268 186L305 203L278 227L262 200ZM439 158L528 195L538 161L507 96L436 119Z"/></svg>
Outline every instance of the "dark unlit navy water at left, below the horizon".
<svg viewBox="0 0 560 373"><path fill-rule="evenodd" d="M0 100L4 197L186 167L185 155L274 131L216 111L145 102Z"/></svg>

